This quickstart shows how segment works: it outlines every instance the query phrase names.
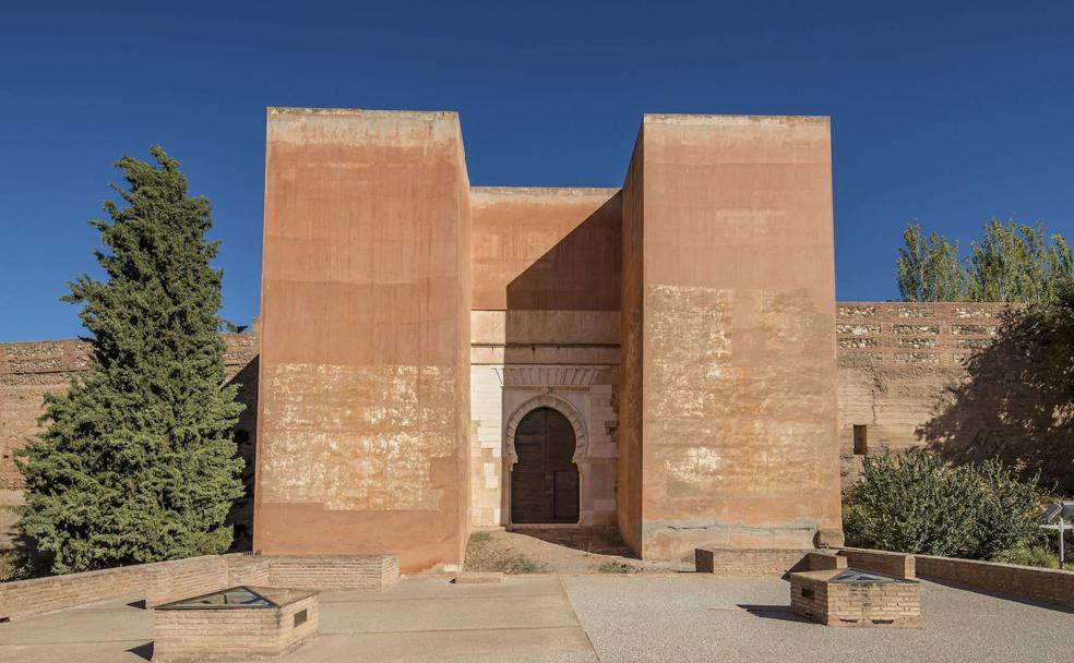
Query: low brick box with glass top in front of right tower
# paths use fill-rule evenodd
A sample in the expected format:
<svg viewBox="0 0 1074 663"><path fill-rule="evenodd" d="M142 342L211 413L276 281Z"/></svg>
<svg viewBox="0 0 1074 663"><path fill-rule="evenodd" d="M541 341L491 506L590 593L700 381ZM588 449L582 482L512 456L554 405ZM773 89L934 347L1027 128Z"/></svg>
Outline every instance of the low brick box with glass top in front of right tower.
<svg viewBox="0 0 1074 663"><path fill-rule="evenodd" d="M920 586L858 569L796 571L790 607L825 626L920 628Z"/></svg>

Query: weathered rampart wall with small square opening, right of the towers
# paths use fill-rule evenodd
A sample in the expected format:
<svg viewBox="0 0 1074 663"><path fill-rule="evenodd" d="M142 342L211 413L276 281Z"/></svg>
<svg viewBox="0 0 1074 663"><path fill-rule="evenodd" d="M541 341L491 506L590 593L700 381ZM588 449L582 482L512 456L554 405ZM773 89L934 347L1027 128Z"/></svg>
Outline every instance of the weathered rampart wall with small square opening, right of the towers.
<svg viewBox="0 0 1074 663"><path fill-rule="evenodd" d="M844 487L866 455L924 446L954 462L999 458L1025 475L1039 470L1046 485L1074 491L1066 396L1031 332L1005 324L1016 311L999 303L839 303Z"/></svg>

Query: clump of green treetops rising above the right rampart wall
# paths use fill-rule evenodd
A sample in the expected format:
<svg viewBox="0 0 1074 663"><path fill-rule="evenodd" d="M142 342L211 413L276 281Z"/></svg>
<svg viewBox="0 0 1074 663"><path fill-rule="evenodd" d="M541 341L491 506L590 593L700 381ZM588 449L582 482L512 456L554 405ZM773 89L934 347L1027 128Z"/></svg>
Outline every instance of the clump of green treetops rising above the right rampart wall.
<svg viewBox="0 0 1074 663"><path fill-rule="evenodd" d="M895 279L904 301L977 301L1047 303L1074 274L1071 246L1043 226L992 219L983 237L958 255L958 242L911 221L895 262Z"/></svg>

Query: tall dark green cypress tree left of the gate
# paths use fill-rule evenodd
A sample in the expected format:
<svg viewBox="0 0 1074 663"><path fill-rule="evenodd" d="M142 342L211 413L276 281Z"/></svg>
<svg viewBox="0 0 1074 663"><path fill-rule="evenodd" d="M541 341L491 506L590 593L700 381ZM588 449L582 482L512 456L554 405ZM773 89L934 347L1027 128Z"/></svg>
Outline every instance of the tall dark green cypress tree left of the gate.
<svg viewBox="0 0 1074 663"><path fill-rule="evenodd" d="M19 466L23 532L53 572L225 552L224 519L242 495L231 429L241 405L224 385L219 270L210 266L212 206L187 195L179 164L116 165L127 205L92 224L107 278L81 276L64 300L82 305L90 371L46 399L44 431Z"/></svg>

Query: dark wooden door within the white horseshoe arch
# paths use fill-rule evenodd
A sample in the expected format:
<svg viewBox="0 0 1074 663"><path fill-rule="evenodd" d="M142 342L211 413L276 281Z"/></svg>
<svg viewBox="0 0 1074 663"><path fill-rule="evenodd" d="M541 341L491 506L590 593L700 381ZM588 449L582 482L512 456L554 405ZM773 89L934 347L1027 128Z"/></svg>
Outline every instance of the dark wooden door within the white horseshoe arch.
<svg viewBox="0 0 1074 663"><path fill-rule="evenodd" d="M518 422L511 470L511 521L577 522L578 468L574 426L552 408L537 408Z"/></svg>

